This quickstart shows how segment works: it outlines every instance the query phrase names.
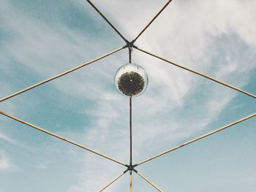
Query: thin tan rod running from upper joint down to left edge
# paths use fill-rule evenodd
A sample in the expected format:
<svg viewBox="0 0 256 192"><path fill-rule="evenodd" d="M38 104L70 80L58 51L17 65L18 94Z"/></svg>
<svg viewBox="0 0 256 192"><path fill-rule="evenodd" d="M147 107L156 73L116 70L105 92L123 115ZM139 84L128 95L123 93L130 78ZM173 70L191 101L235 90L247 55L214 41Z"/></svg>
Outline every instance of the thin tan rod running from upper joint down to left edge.
<svg viewBox="0 0 256 192"><path fill-rule="evenodd" d="M62 73L60 73L60 74L57 74L56 76L50 77L50 78L48 78L48 79L46 79L46 80L42 80L41 82L38 82L38 83L36 83L36 84L34 84L34 85L31 85L31 86L29 86L29 87L27 87L27 88L24 88L23 90L20 90L20 91L18 91L18 92L16 92L16 93L13 93L13 94L11 94L10 96L6 96L6 97L0 99L0 102L5 101L5 100L7 100L7 99L10 99L10 98L12 98L12 97L14 97L14 96L18 96L19 94L24 93L24 92L26 92L26 91L29 91L29 90L31 90L32 88L36 88L36 87L39 86L39 85L45 84L45 82L49 82L49 81L55 80L55 79L57 79L57 78L59 78L59 77L61 77L61 76L64 76L65 74L69 74L69 73L71 73L71 72L74 72L75 70L80 69L80 68L82 68L83 66L87 66L87 65L89 65L89 64L94 63L95 61L99 61L100 59L105 58L105 57L107 57L108 55L112 55L113 53L116 53L116 52L118 52L119 50L122 50L122 49L124 49L124 47L120 47L120 48L118 48L118 49L116 49L116 50L110 51L109 53L106 53L105 55L102 55L102 56L100 56L100 57L98 57L98 58L95 58L94 60L88 61L88 62L86 62L86 63L80 64L79 66L76 66L75 68L69 69L69 70L66 71L66 72L62 72Z"/></svg>

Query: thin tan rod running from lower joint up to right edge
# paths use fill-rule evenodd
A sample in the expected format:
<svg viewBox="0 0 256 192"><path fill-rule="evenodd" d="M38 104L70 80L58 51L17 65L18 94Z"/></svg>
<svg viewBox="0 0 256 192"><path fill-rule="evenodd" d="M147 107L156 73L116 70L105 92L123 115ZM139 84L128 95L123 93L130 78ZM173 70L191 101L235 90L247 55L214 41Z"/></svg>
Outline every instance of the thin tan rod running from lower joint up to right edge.
<svg viewBox="0 0 256 192"><path fill-rule="evenodd" d="M184 142L184 144L181 144L181 145L178 145L178 146L176 146L176 147L170 148L169 150L165 150L164 152L159 153L158 155L154 155L154 156L151 157L151 158L147 158L146 160L141 161L139 164L137 164L137 166L139 166L139 165L141 165L141 164L145 164L146 162L151 161L151 160L153 160L154 158L158 158L158 157L160 157L160 156L162 156L162 155L165 155L166 153L170 153L170 152L172 152L173 150L178 150L179 148L184 147L184 146L186 146L186 145L189 145L189 144L191 144L192 142L196 142L196 141L198 141L198 140L200 140L200 139L203 139L203 138L205 138L205 137L208 137L208 136L210 136L210 135L212 135L212 134L216 134L217 132L222 131L222 130L224 130L225 128L229 128L230 126L234 126L234 125L236 125L236 124L238 124L238 123L243 122L244 120L247 120L247 119L252 118L252 117L255 117L255 116L256 116L256 112L253 113L252 115L246 116L245 118L241 118L240 120L236 120L235 122L230 123L230 124L228 124L227 126L223 126L222 128L218 128L218 129L216 129L215 131L209 132L208 134L203 134L203 135L200 136L200 137L197 137L197 138L195 138L195 139L189 140L188 142Z"/></svg>

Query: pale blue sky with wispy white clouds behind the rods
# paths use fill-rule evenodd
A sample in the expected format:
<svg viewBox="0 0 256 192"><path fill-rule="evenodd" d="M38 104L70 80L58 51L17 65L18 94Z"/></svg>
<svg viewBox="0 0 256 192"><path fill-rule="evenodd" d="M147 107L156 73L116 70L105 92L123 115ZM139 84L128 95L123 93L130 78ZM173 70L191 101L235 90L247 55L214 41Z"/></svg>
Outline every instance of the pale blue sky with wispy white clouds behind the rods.
<svg viewBox="0 0 256 192"><path fill-rule="evenodd" d="M94 0L128 40L166 1ZM256 94L256 1L173 0L135 45ZM124 46L83 0L0 1L0 98ZM128 164L127 49L0 103L0 110ZM133 99L133 161L255 112L252 97L138 50L148 88ZM138 166L163 191L256 191L256 119ZM99 191L124 167L0 116L0 192ZM133 175L134 191L155 191ZM125 174L105 191L129 191Z"/></svg>

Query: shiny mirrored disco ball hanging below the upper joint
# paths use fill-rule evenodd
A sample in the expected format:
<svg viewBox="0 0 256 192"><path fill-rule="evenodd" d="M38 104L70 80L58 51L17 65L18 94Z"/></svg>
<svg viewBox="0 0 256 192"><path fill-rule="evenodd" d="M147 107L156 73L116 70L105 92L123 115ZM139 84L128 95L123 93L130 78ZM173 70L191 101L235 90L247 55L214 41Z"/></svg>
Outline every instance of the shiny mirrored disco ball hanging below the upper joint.
<svg viewBox="0 0 256 192"><path fill-rule="evenodd" d="M146 71L137 64L121 66L115 77L116 88L124 96L135 97L143 93L148 85Z"/></svg>

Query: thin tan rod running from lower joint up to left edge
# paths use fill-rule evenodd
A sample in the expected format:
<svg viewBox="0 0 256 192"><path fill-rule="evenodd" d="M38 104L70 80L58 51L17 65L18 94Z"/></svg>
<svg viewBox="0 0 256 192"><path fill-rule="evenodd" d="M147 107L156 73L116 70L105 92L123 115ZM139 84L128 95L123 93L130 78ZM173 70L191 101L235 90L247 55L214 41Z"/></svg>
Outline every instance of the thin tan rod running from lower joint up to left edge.
<svg viewBox="0 0 256 192"><path fill-rule="evenodd" d="M64 140L65 142L69 142L69 143L72 144L72 145L81 147L81 148L83 148L84 150L88 150L88 151L90 151L91 153L94 153L94 154L97 154L97 155L99 155L99 156L102 156L103 158L108 158L110 161L114 161L114 162L116 162L117 164L121 164L122 166L127 166L126 164L121 163L120 161L117 161L117 160L114 159L114 158L110 158L110 157L108 157L107 155L103 155L102 153L99 153L99 152L97 152L97 151L95 151L95 150L91 150L89 147L85 147L85 146L80 145L80 144L78 144L78 143L76 143L76 142L72 142L72 141L69 140L69 139L66 139L66 138L64 138L64 137L61 137L61 136L59 136L59 135L57 135L57 134L53 134L53 133L50 132L50 131L47 131L47 130L45 130L45 129L43 129L43 128L40 128L39 126L34 126L33 124L26 122L25 120L21 120L21 119L19 119L19 118L15 118L14 116L9 115L9 114L7 114L7 113L5 113L5 112L1 112L1 111L0 111L0 114L6 116L7 118L11 118L11 119L16 120L16 121L18 121L18 122L20 122L20 123L23 123L23 124L25 124L25 125L27 125L27 126L30 126L30 127L32 127L32 128L35 128L35 129L37 129L37 130L39 130L39 131L42 131L42 132L44 132L45 134L49 134L49 135L51 135L51 136L53 136L53 137L56 137L56 138L61 139L61 140Z"/></svg>

